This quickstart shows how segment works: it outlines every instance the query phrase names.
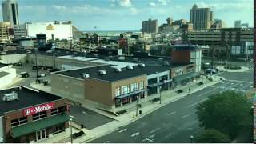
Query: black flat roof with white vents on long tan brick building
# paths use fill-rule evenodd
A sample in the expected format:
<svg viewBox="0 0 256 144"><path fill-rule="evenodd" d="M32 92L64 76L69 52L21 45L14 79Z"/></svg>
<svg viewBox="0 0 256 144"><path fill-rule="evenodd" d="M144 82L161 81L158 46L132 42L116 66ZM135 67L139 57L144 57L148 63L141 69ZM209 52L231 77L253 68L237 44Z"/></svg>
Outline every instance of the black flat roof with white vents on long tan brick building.
<svg viewBox="0 0 256 144"><path fill-rule="evenodd" d="M182 65L179 65L182 66ZM82 74L89 74L89 78L96 78L99 80L104 80L108 82L114 82L126 78L132 78L136 76L140 76L143 74L157 74L161 73L167 70L170 70L174 65L172 66L133 66L132 70L127 70L127 68L122 68L121 72L116 72L115 68L112 65L107 65L107 66L94 66L94 67L89 67L89 68L82 68L82 69L77 69L77 70L66 70L66 71L60 71L54 74L61 74L61 75L66 75L70 76L73 78L82 78ZM99 70L105 70L106 74L100 75L98 73Z"/></svg>

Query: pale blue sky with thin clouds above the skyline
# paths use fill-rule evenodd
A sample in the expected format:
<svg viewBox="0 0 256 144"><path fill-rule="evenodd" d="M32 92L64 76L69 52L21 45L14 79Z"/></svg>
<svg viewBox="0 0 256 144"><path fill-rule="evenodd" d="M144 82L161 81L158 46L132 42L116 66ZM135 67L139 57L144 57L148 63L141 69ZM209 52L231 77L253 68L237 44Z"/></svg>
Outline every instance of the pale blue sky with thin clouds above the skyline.
<svg viewBox="0 0 256 144"><path fill-rule="evenodd" d="M253 0L17 0L20 23L72 21L79 30L140 30L142 21L190 19L190 9L210 7L229 27L253 26ZM2 15L2 10L0 10Z"/></svg>

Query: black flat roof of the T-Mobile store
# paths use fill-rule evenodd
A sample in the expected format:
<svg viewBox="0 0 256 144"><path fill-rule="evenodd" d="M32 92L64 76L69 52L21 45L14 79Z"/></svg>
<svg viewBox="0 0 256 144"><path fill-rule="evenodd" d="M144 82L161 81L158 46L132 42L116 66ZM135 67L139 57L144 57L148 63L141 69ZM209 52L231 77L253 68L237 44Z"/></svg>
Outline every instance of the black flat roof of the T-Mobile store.
<svg viewBox="0 0 256 144"><path fill-rule="evenodd" d="M22 89L19 90L19 87ZM25 86L14 87L6 90L0 90L0 116L6 112L12 110L23 109L30 106L36 106L46 102L52 102L58 99L62 99L61 97L49 94L40 90L32 90L26 88ZM18 94L18 100L4 102L2 98L5 94L10 94L15 91Z"/></svg>

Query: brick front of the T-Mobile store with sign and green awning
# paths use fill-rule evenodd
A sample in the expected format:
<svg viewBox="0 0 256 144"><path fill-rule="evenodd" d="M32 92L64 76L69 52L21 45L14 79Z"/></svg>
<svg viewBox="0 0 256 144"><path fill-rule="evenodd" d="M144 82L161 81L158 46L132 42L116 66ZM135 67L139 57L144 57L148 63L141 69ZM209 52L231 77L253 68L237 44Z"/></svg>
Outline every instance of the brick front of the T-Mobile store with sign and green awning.
<svg viewBox="0 0 256 144"><path fill-rule="evenodd" d="M26 102L26 107L3 113L0 117L3 142L39 142L64 132L69 127L69 103L65 98L55 95L50 99L55 100L33 106L30 106L31 102Z"/></svg>

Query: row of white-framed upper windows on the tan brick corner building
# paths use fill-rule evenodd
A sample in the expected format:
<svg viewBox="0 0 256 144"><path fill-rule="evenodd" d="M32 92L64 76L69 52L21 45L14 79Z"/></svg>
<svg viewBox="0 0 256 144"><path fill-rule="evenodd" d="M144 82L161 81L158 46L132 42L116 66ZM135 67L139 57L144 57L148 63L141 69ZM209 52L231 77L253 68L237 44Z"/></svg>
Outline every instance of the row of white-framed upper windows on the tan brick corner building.
<svg viewBox="0 0 256 144"><path fill-rule="evenodd" d="M136 90L142 90L142 89L144 89L144 82L143 81L139 82L139 86L138 86L138 82L135 82L130 85L117 87L115 89L115 96L119 96L122 94L128 94L130 92L134 92Z"/></svg>

